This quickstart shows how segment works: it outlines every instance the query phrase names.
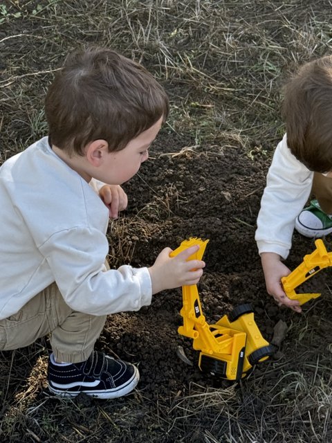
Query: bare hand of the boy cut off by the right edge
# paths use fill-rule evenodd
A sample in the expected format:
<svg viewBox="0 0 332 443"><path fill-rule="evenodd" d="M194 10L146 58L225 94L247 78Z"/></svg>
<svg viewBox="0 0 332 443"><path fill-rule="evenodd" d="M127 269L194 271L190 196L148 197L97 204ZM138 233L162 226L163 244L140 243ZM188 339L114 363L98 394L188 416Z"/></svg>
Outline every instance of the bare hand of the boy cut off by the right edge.
<svg viewBox="0 0 332 443"><path fill-rule="evenodd" d="M293 309L293 311L301 312L298 300L291 300L282 289L282 277L285 277L291 271L280 260L280 256L275 253L261 253L261 265L263 266L264 277L266 282L266 290L273 296L279 306L285 305Z"/></svg>

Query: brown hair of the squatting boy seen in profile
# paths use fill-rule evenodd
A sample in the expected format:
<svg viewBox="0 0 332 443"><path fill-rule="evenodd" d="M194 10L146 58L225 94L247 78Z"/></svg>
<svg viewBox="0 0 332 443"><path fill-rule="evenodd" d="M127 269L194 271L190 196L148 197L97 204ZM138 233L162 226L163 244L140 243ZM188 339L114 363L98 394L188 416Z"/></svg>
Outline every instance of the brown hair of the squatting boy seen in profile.
<svg viewBox="0 0 332 443"><path fill-rule="evenodd" d="M55 75L45 100L50 142L68 155L102 139L109 151L167 118L163 87L140 64L108 48L74 51Z"/></svg>

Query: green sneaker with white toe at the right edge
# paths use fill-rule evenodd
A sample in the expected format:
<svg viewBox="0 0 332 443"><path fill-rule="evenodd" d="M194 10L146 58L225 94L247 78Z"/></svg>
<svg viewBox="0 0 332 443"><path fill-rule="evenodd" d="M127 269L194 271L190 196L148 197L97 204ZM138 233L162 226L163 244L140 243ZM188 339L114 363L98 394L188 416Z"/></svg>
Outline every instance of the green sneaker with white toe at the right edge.
<svg viewBox="0 0 332 443"><path fill-rule="evenodd" d="M317 200L311 200L295 220L295 229L305 237L319 238L332 233L332 215L322 211Z"/></svg>

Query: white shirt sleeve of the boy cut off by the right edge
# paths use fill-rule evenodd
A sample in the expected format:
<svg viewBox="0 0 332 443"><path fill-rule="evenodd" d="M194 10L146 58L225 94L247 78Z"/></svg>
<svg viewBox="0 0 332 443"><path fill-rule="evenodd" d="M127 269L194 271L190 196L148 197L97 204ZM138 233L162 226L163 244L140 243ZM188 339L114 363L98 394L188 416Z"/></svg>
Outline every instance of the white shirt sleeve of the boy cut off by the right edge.
<svg viewBox="0 0 332 443"><path fill-rule="evenodd" d="M285 134L275 150L261 198L255 234L260 254L288 256L295 219L308 200L312 184L313 172L293 156Z"/></svg>

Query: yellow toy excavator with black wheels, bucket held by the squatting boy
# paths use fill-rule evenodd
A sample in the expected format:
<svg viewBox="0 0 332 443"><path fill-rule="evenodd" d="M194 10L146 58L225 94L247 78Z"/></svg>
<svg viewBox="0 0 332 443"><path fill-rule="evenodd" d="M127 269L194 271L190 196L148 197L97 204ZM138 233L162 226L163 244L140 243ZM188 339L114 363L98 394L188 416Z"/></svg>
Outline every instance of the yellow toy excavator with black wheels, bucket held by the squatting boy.
<svg viewBox="0 0 332 443"><path fill-rule="evenodd" d="M199 238L183 241L171 256L195 244L200 246L199 250L188 260L201 260L208 240ZM209 325L203 316L197 285L183 286L182 293L180 314L183 326L178 328L178 333L192 338L194 350L201 351L199 368L203 372L239 380L246 376L253 365L273 354L273 347L261 336L250 305L235 307L229 316L223 316L214 325Z"/></svg>

